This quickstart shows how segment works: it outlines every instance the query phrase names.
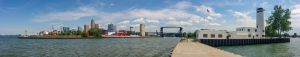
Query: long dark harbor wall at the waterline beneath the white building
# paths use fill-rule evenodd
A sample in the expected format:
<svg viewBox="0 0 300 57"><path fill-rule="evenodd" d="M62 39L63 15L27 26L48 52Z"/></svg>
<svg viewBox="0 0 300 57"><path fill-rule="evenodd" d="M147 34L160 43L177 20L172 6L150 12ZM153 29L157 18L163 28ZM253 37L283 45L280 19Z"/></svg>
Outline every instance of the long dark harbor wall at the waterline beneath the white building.
<svg viewBox="0 0 300 57"><path fill-rule="evenodd" d="M290 42L290 38L275 39L198 39L199 42L210 46L236 46L236 45L252 45L252 44L269 44Z"/></svg>

